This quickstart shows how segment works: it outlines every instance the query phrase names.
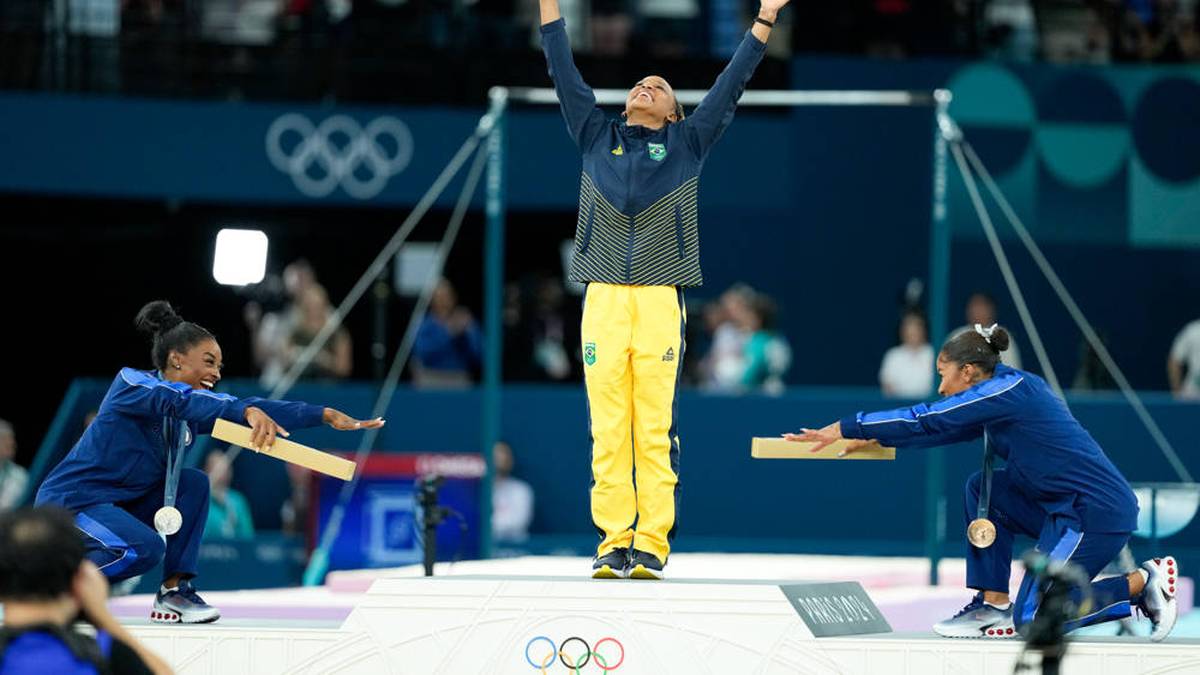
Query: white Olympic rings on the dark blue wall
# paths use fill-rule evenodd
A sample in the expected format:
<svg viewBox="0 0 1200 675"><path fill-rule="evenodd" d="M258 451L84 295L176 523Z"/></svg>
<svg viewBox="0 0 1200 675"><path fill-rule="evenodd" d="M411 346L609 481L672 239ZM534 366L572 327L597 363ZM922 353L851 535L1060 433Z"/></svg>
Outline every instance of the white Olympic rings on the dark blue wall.
<svg viewBox="0 0 1200 675"><path fill-rule="evenodd" d="M413 133L386 115L364 129L348 115L313 125L299 113L287 113L266 130L266 157L307 197L325 197L341 185L350 197L370 199L408 167Z"/></svg>

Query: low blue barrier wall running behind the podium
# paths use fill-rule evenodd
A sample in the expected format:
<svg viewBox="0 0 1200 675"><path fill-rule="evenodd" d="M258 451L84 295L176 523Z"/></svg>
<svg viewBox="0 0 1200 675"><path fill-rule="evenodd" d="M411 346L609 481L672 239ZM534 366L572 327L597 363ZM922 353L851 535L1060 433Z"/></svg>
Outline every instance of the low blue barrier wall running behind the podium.
<svg viewBox="0 0 1200 675"><path fill-rule="evenodd" d="M46 468L67 452L79 422L95 408L107 381L78 380L38 453ZM260 395L248 381L227 381L234 395ZM288 398L340 410L371 410L378 390L368 383L299 384ZM1130 482L1174 482L1177 476L1115 395L1069 396L1074 414ZM1193 474L1200 474L1195 420L1200 406L1147 394L1146 404ZM679 395L682 492L677 550L922 555L925 450L899 453L895 461L752 460L750 438L800 426L823 425L859 410L901 405L868 389L804 388L781 396ZM480 449L480 390L430 392L402 388L386 414L376 452ZM353 452L356 434L293 430L293 440L328 450ZM515 448L515 473L535 492L530 550L588 554L594 545L588 512L589 437L582 387L510 386L503 390L503 437ZM199 461L206 441L190 458ZM946 450L944 555L961 556L962 485L979 470L980 442ZM38 470L35 467L35 480ZM234 486L251 501L259 530L278 526L288 494L282 462L242 453ZM1200 524L1162 542L1163 549L1200 563ZM1150 555L1145 539L1135 552Z"/></svg>

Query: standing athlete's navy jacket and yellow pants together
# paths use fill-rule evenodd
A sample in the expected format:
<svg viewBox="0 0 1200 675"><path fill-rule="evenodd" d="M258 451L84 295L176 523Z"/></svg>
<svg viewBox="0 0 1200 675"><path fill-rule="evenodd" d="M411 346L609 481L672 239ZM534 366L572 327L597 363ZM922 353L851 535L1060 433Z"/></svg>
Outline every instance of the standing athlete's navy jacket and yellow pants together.
<svg viewBox="0 0 1200 675"><path fill-rule="evenodd" d="M598 555L666 562L679 497L676 393L683 288L700 286L696 193L766 44L749 31L685 120L653 130L607 119L571 59L562 19L541 26L566 126L583 155L570 279L587 283L583 362Z"/></svg>

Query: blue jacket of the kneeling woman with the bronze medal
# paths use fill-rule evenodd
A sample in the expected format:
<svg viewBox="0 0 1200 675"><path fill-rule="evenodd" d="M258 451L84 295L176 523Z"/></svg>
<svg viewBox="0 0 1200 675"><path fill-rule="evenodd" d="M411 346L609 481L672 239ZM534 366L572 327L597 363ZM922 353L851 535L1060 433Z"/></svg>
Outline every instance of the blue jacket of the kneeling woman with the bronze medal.
<svg viewBox="0 0 1200 675"><path fill-rule="evenodd" d="M978 438L988 431L1013 483L1048 515L1084 532L1132 532L1138 500L1100 446L1037 375L1000 364L966 392L911 408L841 420L847 438L922 448Z"/></svg>

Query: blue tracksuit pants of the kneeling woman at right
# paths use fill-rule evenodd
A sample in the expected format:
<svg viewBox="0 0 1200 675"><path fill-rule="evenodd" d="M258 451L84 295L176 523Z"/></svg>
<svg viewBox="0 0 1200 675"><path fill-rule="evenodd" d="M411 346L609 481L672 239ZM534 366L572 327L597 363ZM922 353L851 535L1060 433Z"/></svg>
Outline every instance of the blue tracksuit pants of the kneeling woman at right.
<svg viewBox="0 0 1200 675"><path fill-rule="evenodd" d="M980 472L967 479L964 500L966 522L976 518L982 480ZM1078 522L1050 516L1014 485L1003 468L992 474L988 519L996 525L996 542L986 549L967 546L967 587L977 591L1009 592L1013 539L1016 534L1037 539L1037 550L1051 560L1082 567L1090 579L1094 579L1129 540L1129 532L1080 532ZM1018 628L1032 621L1038 611L1036 586L1037 579L1032 574L1021 580L1021 589L1013 601L1013 621ZM1078 604L1082 593L1073 589L1070 596ZM1087 614L1068 621L1066 629L1124 619L1130 614L1129 602L1129 584L1124 577L1096 581Z"/></svg>

